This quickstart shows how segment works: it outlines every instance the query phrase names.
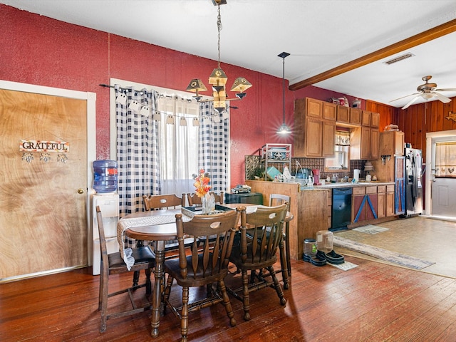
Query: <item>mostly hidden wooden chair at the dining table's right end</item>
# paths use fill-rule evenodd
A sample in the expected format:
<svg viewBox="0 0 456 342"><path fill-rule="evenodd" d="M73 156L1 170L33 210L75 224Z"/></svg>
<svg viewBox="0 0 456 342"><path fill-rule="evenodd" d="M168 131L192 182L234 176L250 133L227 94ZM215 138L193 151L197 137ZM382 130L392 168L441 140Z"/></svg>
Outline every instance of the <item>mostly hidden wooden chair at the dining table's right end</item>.
<svg viewBox="0 0 456 342"><path fill-rule="evenodd" d="M280 204L288 204L287 211L290 211L291 197L281 194L269 195L269 207L274 207ZM290 222L285 222L283 244L279 246L280 249L280 266L282 279L284 279L284 289L289 288L289 281L291 280L291 262L290 262ZM285 264L286 261L286 264ZM286 272L286 273L285 273Z"/></svg>

